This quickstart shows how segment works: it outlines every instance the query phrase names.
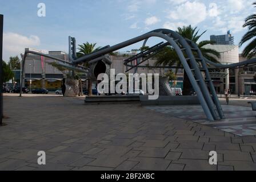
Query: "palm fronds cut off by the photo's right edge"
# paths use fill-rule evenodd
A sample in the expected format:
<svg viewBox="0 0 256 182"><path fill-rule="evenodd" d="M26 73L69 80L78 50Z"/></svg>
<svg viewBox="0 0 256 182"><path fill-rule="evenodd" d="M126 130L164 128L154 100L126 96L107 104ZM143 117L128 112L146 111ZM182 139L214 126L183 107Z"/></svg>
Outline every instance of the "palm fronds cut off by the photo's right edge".
<svg viewBox="0 0 256 182"><path fill-rule="evenodd" d="M256 2L253 3L256 5ZM256 6L254 6L256 7ZM245 19L245 24L243 27L248 27L248 31L243 35L241 42L239 43L242 46L244 43L251 40L251 42L243 49L243 57L248 57L249 59L256 55L256 14L252 14Z"/></svg>

